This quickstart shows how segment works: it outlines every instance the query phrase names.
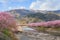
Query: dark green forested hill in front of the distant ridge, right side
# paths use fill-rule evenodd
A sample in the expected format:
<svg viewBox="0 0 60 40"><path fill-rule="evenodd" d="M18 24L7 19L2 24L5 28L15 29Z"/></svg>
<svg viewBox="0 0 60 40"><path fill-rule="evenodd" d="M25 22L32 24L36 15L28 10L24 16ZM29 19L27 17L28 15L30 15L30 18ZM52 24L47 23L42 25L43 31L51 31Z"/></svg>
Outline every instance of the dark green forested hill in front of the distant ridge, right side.
<svg viewBox="0 0 60 40"><path fill-rule="evenodd" d="M60 20L60 16L56 14L36 13L36 14L28 14L27 17L38 18L44 21Z"/></svg>

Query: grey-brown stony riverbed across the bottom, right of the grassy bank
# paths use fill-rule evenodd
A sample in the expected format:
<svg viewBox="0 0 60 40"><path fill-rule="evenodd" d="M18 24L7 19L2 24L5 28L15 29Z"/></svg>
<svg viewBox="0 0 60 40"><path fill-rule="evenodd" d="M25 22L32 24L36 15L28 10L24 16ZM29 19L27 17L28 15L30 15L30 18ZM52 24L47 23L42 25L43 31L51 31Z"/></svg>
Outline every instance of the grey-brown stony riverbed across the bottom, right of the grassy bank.
<svg viewBox="0 0 60 40"><path fill-rule="evenodd" d="M33 31L18 33L17 38L19 40L60 40L60 36L43 32L33 32Z"/></svg>

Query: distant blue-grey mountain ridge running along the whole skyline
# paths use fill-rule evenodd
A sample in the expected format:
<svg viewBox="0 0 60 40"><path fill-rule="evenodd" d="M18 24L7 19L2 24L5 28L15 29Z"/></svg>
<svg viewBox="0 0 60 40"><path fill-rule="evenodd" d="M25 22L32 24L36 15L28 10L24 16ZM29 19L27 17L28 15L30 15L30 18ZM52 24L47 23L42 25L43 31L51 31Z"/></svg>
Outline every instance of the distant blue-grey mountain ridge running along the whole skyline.
<svg viewBox="0 0 60 40"><path fill-rule="evenodd" d="M26 14L30 14L30 13L44 13L44 14L48 14L48 13L55 13L55 14L60 14L60 10L55 10L55 11L42 11L42 10L27 10L27 9L14 9L14 10L10 10L7 12L16 12L19 13L21 15L26 15Z"/></svg>

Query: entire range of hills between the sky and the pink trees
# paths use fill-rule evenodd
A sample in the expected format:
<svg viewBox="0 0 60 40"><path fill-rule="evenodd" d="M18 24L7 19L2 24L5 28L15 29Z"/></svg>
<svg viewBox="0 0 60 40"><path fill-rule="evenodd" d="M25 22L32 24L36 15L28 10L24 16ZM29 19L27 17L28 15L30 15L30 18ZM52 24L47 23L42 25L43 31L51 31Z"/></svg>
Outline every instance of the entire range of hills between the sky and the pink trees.
<svg viewBox="0 0 60 40"><path fill-rule="evenodd" d="M15 9L7 12L13 14L16 19L28 22L60 20L60 10L42 11L42 10Z"/></svg>

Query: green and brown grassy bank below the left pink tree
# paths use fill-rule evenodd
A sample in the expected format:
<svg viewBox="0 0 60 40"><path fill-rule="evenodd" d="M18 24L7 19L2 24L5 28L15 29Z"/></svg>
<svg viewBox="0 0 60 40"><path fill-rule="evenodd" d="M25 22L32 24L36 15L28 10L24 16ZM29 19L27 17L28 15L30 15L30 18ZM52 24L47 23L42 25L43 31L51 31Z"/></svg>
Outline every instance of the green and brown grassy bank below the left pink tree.
<svg viewBox="0 0 60 40"><path fill-rule="evenodd" d="M4 39L4 40L17 40L17 38L15 37L14 33L8 29L4 29L3 31L1 31L1 33L3 34L2 37L0 37L0 39ZM1 36L1 34L0 34Z"/></svg>

